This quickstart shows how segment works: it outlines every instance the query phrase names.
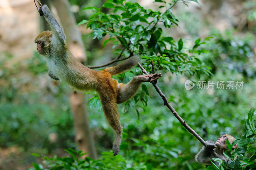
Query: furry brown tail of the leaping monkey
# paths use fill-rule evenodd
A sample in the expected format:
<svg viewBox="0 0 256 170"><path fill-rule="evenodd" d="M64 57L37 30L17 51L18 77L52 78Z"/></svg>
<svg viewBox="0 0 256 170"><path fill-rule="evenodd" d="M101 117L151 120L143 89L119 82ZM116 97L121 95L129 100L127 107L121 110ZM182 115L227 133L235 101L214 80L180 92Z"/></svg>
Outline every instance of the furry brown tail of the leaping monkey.
<svg viewBox="0 0 256 170"><path fill-rule="evenodd" d="M108 71L111 75L116 75L124 72L125 70L128 70L132 68L132 66L136 65L139 62L138 55L132 56L131 58L128 58L127 60L124 60L122 63L118 64L114 67L107 67L105 70Z"/></svg>

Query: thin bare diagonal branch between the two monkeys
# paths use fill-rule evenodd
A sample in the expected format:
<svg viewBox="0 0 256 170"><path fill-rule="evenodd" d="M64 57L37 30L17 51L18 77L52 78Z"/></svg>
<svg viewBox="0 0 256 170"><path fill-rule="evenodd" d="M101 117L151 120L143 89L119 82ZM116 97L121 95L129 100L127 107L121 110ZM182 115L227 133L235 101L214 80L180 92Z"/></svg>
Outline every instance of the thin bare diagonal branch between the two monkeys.
<svg viewBox="0 0 256 170"><path fill-rule="evenodd" d="M140 67L140 69L142 70L142 72L146 75L148 75L148 72L142 67L142 65L140 65L140 63L138 62L138 66ZM196 137L196 139L201 142L201 144L203 144L206 147L206 143L204 141L204 139L202 137L200 137L195 130L193 130L190 126L188 126L188 124L186 123L186 121L184 121L180 115L175 111L175 109L170 105L169 101L167 100L167 98L165 97L164 93L160 90L160 88L158 87L158 85L156 85L155 82L151 82L152 85L155 87L156 91L158 92L158 94L162 97L162 99L164 100L164 105L167 106L169 108L169 110L171 110L172 114L180 121L181 125L184 126L192 135L194 135ZM220 157L216 152L214 152L213 150L209 150L212 155L216 158L220 158L223 159L222 157Z"/></svg>

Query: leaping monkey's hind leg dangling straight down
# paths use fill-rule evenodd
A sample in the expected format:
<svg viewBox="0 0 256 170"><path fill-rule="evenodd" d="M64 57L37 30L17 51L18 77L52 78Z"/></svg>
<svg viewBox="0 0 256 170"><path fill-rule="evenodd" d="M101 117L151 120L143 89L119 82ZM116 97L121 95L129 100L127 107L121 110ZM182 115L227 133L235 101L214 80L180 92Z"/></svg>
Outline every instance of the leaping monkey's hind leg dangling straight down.
<svg viewBox="0 0 256 170"><path fill-rule="evenodd" d="M119 146L122 140L123 127L119 120L119 114L116 106L116 95L111 89L99 92L102 109L108 124L115 130L116 137L113 142L114 156L119 152Z"/></svg>

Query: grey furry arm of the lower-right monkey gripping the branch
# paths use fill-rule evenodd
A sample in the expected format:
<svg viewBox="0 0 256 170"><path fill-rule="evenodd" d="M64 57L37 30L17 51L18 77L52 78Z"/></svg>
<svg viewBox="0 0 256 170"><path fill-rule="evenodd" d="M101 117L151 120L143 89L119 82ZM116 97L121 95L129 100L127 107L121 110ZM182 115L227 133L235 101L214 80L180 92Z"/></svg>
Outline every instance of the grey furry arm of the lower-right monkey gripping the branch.
<svg viewBox="0 0 256 170"><path fill-rule="evenodd" d="M205 141L206 143L206 147L208 149L213 149L215 148L215 142L214 141ZM211 164L210 159L213 158L213 155L211 154L211 152L208 151L208 149L203 147L197 154L196 154L196 162L199 163L204 163L204 164ZM209 159L210 157L210 159Z"/></svg>

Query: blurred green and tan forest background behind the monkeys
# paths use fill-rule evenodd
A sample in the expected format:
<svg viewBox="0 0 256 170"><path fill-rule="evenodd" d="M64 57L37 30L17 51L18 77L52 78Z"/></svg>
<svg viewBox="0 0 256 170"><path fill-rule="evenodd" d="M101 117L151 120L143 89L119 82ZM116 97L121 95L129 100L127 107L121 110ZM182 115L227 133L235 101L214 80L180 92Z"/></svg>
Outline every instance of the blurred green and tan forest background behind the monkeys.
<svg viewBox="0 0 256 170"><path fill-rule="evenodd" d="M130 2L138 2L145 9L162 10L154 1ZM182 38L184 49L193 47L198 38L213 37L201 45L209 53L196 56L211 68L212 74L191 76L186 72L173 74L155 70L163 74L157 85L180 116L204 140L216 140L223 133L242 136L244 119L256 104L256 2L198 2L201 6L192 1L188 6L176 4L172 13L179 20L179 26L171 29L162 26L162 34L177 42ZM105 1L69 0L69 3L75 22L79 23L93 14L93 11L81 9L88 6L101 8ZM104 10L111 13L108 8ZM57 15L58 9L53 7L52 11ZM64 149L85 148L86 151L88 141L81 146L76 140L76 122L70 104L73 89L52 80L47 75L44 60L36 53L33 41L42 29L42 22L39 22L33 1L2 0L0 21L0 169L27 169L33 162L45 163L35 154L65 157L68 153ZM77 28L82 35L82 42L78 41L78 44L84 44L79 49L84 48L85 53L75 55L86 60L86 65L101 65L115 58L110 42L103 48L106 39L92 40L88 36L92 30L87 29L86 24ZM128 82L134 76L133 72L116 78ZM198 81L244 81L244 84L242 89L221 90L216 89L215 84L214 89L196 89L195 86L186 90L186 80L195 84ZM205 166L194 159L202 144L164 107L163 100L150 83L140 88L140 97L145 93L148 95L142 96L144 101L136 103L132 99L118 107L124 134L121 156L115 158L110 154L114 132L104 119L97 95L84 95L84 101L93 98L83 104L84 114L89 117L90 144L95 148L91 157L102 159L105 156L105 162L121 162L126 168L204 169Z"/></svg>

